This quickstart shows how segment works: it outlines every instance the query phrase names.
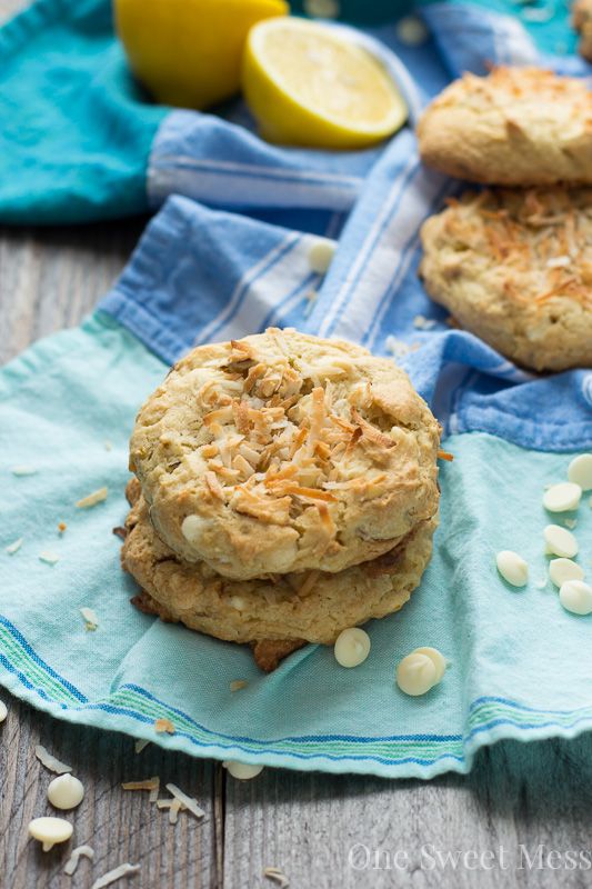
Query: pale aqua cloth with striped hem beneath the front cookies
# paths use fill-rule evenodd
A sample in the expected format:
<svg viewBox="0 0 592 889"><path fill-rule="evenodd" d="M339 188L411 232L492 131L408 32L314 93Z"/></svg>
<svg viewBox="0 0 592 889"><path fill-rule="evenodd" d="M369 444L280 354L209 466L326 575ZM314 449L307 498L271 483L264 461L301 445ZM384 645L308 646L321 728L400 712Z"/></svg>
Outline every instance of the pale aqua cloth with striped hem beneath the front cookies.
<svg viewBox="0 0 592 889"><path fill-rule="evenodd" d="M116 729L195 756L270 766L429 778L469 770L500 738L573 738L592 729L592 616L564 611L544 577L544 486L569 453L536 452L493 436L449 437L432 562L400 615L372 622L355 670L307 646L271 676L248 648L139 613L111 533L127 505L127 449L137 409L167 372L134 337L99 313L41 341L0 372L0 682L72 722ZM111 442L111 449L106 447ZM14 476L29 465L34 475ZM107 486L107 501L74 503ZM58 522L67 530L60 535ZM590 571L592 510L576 535ZM22 538L13 555L4 547ZM523 590L498 576L494 555L531 565ZM46 550L59 556L51 566ZM80 608L99 627L84 629ZM393 681L418 646L450 660L423 698ZM248 687L231 693L230 682ZM153 721L169 718L172 736Z"/></svg>

